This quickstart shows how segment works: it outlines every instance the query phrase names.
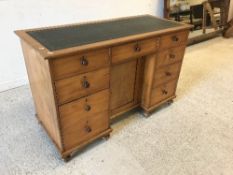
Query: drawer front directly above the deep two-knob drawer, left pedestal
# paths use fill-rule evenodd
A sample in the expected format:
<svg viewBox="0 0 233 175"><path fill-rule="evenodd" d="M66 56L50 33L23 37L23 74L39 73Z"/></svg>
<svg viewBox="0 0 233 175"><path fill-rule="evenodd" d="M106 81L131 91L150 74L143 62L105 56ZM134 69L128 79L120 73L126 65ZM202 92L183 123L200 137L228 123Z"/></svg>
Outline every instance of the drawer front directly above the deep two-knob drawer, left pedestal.
<svg viewBox="0 0 233 175"><path fill-rule="evenodd" d="M109 88L109 68L89 72L55 82L59 104Z"/></svg>

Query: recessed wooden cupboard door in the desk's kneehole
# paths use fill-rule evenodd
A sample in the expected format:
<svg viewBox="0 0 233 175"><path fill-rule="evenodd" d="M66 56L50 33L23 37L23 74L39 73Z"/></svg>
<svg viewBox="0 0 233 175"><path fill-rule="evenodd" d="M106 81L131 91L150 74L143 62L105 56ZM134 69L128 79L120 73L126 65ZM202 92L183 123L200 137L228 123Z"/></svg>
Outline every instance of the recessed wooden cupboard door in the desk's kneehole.
<svg viewBox="0 0 233 175"><path fill-rule="evenodd" d="M134 100L137 60L114 65L111 69L111 110Z"/></svg>

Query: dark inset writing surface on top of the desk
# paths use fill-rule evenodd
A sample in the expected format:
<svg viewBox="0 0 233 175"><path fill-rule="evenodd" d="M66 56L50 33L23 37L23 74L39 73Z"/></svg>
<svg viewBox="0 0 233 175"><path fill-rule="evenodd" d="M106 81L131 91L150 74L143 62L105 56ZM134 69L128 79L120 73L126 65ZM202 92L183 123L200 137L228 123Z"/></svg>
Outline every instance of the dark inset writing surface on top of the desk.
<svg viewBox="0 0 233 175"><path fill-rule="evenodd" d="M48 50L56 51L179 26L182 26L182 24L145 15L96 23L29 30L27 34Z"/></svg>

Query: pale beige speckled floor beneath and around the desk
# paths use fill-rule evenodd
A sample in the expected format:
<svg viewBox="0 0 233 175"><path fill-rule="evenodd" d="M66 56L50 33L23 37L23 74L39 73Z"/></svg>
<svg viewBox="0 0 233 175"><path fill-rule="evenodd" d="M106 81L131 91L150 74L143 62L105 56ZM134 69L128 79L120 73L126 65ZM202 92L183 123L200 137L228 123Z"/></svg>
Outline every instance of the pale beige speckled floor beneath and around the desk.
<svg viewBox="0 0 233 175"><path fill-rule="evenodd" d="M35 119L29 86L0 104L1 175L233 174L233 39L189 47L172 105L126 115L68 163Z"/></svg>

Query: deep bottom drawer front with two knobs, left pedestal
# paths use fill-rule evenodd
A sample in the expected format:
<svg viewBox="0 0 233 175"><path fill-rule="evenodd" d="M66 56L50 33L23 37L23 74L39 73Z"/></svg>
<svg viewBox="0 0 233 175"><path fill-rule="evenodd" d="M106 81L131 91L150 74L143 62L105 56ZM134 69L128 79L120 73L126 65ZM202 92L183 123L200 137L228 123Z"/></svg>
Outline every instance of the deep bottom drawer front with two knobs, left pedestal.
<svg viewBox="0 0 233 175"><path fill-rule="evenodd" d="M65 149L71 149L109 128L109 90L59 108Z"/></svg>

